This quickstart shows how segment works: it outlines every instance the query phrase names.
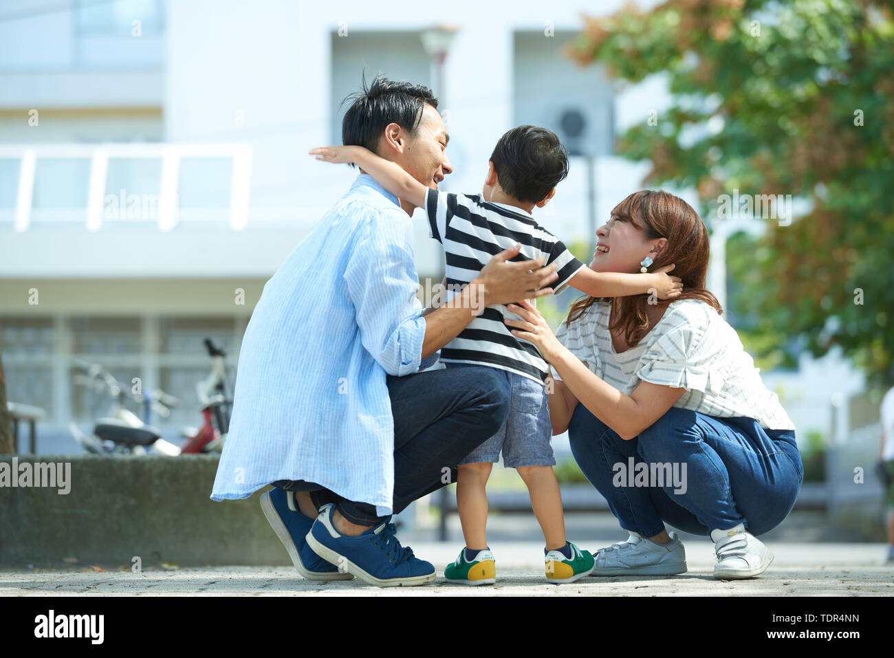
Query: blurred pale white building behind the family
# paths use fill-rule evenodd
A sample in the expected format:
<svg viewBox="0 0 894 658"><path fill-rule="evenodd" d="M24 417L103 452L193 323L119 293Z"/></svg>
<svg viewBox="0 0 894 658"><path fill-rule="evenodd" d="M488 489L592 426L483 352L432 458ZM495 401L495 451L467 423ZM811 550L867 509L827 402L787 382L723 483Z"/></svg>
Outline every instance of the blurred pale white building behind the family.
<svg viewBox="0 0 894 658"><path fill-rule="evenodd" d="M9 400L46 409L38 452L80 451L66 426L108 404L72 384L73 359L179 397L166 431L197 424L202 339L235 366L264 283L356 175L307 152L341 143L340 104L364 71L439 89L445 190L479 191L510 127L559 133L570 175L536 216L588 262L591 218L603 224L648 170L613 156L614 137L671 103L660 77L621 89L562 54L582 10L621 4L5 0L0 332ZM457 30L435 84L420 37L439 24ZM443 251L414 222L420 281L440 281ZM721 302L724 240L708 283ZM574 297L556 299L553 324ZM847 361L763 375L799 441L848 435L864 382Z"/></svg>

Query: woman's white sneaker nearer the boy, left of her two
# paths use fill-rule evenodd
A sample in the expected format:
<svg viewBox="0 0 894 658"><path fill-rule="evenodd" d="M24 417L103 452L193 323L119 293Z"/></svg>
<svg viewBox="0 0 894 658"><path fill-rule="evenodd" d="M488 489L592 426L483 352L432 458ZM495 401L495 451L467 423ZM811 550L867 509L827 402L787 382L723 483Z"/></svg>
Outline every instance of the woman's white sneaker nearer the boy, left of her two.
<svg viewBox="0 0 894 658"><path fill-rule="evenodd" d="M657 544L628 530L626 542L611 544L596 551L591 576L673 576L686 573L686 550L677 533L671 541Z"/></svg>

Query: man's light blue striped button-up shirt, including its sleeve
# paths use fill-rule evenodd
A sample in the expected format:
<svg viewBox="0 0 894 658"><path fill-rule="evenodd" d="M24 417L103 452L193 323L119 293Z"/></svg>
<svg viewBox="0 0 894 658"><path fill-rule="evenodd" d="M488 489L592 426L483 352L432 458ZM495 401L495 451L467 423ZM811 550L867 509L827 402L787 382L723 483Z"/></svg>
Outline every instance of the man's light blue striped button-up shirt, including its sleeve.
<svg viewBox="0 0 894 658"><path fill-rule="evenodd" d="M365 173L265 284L242 339L230 434L211 499L306 480L392 513L385 375L420 364L413 226Z"/></svg>

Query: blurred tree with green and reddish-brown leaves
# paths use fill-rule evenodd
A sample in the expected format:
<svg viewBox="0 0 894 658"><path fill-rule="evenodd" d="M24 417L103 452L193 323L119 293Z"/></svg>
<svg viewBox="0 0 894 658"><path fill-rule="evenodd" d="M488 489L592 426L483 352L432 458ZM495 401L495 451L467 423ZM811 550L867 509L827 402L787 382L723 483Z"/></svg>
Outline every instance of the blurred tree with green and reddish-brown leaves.
<svg viewBox="0 0 894 658"><path fill-rule="evenodd" d="M737 310L755 319L747 331L764 350L792 338L814 356L839 345L871 380L894 382L888 4L671 0L585 21L569 56L620 80L668 80L673 106L644 107L618 145L652 162L645 184L694 188L703 217L733 190L803 207L728 249Z"/></svg>

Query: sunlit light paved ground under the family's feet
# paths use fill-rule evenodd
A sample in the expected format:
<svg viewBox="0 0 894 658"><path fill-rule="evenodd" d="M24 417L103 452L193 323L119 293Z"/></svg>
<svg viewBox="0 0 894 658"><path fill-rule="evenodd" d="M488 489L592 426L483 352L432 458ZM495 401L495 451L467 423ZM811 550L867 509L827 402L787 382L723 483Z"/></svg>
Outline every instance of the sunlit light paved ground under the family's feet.
<svg viewBox="0 0 894 658"><path fill-rule="evenodd" d="M420 542L411 544L414 553L439 569L439 577L428 586L380 589L357 579L324 584L301 578L291 566L156 568L134 573L130 565L97 565L106 570L89 566L2 570L0 596L894 595L894 565L881 564L884 544L774 543L776 559L763 576L719 581L712 577L713 544L706 539L685 542L689 571L670 578L584 578L554 586L544 581L541 543L503 541L491 544L497 560L495 586L457 586L443 580L443 567L456 558L459 545Z"/></svg>

